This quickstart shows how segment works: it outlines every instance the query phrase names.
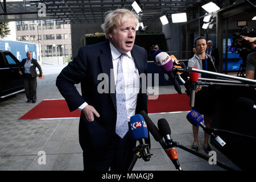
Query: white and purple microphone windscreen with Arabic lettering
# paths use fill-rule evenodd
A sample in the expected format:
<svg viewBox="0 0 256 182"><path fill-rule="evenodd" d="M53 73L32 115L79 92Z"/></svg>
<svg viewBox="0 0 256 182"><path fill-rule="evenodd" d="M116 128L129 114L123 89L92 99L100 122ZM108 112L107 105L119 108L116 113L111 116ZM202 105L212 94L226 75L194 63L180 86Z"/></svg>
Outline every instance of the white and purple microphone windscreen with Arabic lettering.
<svg viewBox="0 0 256 182"><path fill-rule="evenodd" d="M171 56L166 52L160 52L155 56L155 63L160 67L164 72L171 71L174 68L174 63L172 63Z"/></svg>

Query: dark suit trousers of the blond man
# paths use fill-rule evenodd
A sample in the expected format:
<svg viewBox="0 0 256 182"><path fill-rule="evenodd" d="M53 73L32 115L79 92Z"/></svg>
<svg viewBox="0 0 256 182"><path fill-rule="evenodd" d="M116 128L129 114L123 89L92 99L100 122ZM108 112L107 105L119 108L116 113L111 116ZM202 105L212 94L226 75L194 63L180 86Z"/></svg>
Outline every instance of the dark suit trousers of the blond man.
<svg viewBox="0 0 256 182"><path fill-rule="evenodd" d="M108 148L95 155L89 150L83 152L85 171L127 171L133 161L133 147L136 141L132 139L131 129L122 139L115 134Z"/></svg>

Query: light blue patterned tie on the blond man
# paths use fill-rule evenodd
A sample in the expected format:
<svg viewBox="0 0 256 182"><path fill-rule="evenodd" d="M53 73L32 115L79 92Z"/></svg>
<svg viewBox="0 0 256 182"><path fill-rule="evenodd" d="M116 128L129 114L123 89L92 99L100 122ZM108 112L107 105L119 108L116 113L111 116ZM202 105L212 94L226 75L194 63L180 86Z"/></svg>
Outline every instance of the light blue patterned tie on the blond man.
<svg viewBox="0 0 256 182"><path fill-rule="evenodd" d="M123 78L123 54L118 62L117 85L115 89L115 96L117 98L117 123L115 125L115 133L121 138L125 136L128 131L128 120L125 105L125 80Z"/></svg>

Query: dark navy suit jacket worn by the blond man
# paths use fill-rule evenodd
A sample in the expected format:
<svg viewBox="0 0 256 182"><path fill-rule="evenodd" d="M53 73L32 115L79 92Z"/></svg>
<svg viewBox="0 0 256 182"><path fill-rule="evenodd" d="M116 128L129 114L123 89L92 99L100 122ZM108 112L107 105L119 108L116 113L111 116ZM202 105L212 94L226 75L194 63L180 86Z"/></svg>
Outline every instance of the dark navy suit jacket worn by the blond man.
<svg viewBox="0 0 256 182"><path fill-rule="evenodd" d="M144 48L135 46L131 50L139 74L147 73L147 52ZM115 134L117 119L117 105L115 93L110 93L110 82L114 83L114 76L110 77L113 69L112 55L109 41L84 46L57 77L56 86L67 101L70 111L76 110L85 101L92 105L100 114L94 121L89 122L81 112L79 124L79 142L83 151L101 152L108 148L108 144ZM106 73L109 79L109 93L98 93L97 86L102 80L97 80L100 73ZM113 73L113 72L112 72ZM74 84L81 82L82 96L77 92ZM147 112L147 95L139 93L136 113Z"/></svg>

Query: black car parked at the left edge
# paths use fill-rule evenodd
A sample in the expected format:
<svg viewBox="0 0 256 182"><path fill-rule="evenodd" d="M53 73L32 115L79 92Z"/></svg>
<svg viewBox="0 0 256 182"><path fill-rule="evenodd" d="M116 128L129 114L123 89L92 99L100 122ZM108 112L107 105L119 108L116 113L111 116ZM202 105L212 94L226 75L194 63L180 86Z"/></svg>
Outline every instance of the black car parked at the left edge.
<svg viewBox="0 0 256 182"><path fill-rule="evenodd" d="M0 50L0 98L24 91L24 79L18 72L19 63L10 51Z"/></svg>

